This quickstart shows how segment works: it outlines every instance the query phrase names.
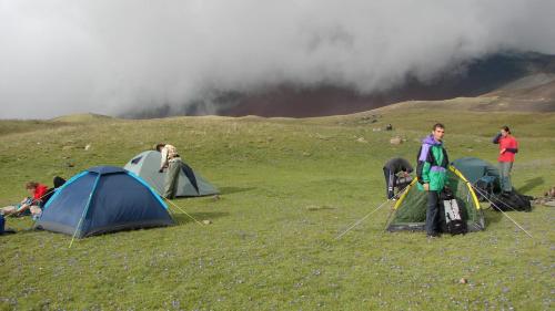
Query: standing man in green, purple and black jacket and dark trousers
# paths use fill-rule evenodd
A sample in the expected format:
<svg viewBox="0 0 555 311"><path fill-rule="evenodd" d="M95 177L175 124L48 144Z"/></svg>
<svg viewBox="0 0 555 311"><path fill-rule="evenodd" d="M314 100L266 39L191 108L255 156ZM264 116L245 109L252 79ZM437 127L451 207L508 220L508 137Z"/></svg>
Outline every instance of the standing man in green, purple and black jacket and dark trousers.
<svg viewBox="0 0 555 311"><path fill-rule="evenodd" d="M441 232L440 194L445 188L448 166L447 151L443 147L445 126L436 123L431 135L422 141L418 151L416 175L418 189L427 191L426 235L438 237Z"/></svg>

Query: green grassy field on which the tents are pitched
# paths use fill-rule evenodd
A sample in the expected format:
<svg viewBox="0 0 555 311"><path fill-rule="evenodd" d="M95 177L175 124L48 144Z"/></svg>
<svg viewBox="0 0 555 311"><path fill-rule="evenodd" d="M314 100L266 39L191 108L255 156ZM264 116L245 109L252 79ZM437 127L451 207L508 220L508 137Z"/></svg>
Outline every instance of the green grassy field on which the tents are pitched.
<svg viewBox="0 0 555 311"><path fill-rule="evenodd" d="M436 121L452 159L493 163L491 137L509 125L521 143L516 188L539 196L555 185L555 114L471 112L463 102L306 120L1 121L2 205L20 200L29 179L123 166L160 141L222 195L173 201L211 225L176 214L174 227L71 248L69 236L8 219L18 234L0 237L0 310L553 310L548 207L509 212L534 238L486 210L485 231L427 241L384 232L384 208L335 239L384 201L383 163L413 160ZM374 129L387 123L393 132ZM405 141L391 145L393 136Z"/></svg>

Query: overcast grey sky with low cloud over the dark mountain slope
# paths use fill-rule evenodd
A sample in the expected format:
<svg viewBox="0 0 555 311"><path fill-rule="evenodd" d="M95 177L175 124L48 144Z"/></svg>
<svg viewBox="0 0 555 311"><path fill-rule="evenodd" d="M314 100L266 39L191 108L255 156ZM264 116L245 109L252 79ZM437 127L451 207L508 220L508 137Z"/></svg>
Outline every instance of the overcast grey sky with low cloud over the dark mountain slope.
<svg viewBox="0 0 555 311"><path fill-rule="evenodd" d="M0 0L0 118L280 83L370 93L500 51L555 54L553 12L553 0Z"/></svg>

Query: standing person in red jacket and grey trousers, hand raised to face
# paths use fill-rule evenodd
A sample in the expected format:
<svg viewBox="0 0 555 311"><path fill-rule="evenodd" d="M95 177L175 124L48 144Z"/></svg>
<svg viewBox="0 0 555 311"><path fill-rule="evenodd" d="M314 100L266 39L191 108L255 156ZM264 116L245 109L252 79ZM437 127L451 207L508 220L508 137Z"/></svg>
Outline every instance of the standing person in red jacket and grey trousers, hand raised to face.
<svg viewBox="0 0 555 311"><path fill-rule="evenodd" d="M511 169L515 162L515 154L518 152L518 142L511 135L508 126L503 126L497 136L493 138L493 143L500 145L500 156L497 160L500 162L501 189L504 193L512 193Z"/></svg>

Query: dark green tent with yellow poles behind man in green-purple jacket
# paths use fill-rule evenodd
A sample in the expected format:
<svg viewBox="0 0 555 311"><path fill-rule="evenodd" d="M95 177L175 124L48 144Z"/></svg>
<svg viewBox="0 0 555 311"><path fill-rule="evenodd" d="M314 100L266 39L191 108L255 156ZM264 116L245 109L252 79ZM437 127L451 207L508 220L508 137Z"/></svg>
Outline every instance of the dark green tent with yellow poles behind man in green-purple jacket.
<svg viewBox="0 0 555 311"><path fill-rule="evenodd" d="M426 222L427 195L418 190L414 179L393 207L395 214L387 225L389 231L424 230ZM447 169L447 183L453 190L462 217L466 220L468 231L478 231L485 228L484 216L476 194L464 175L455 167Z"/></svg>

